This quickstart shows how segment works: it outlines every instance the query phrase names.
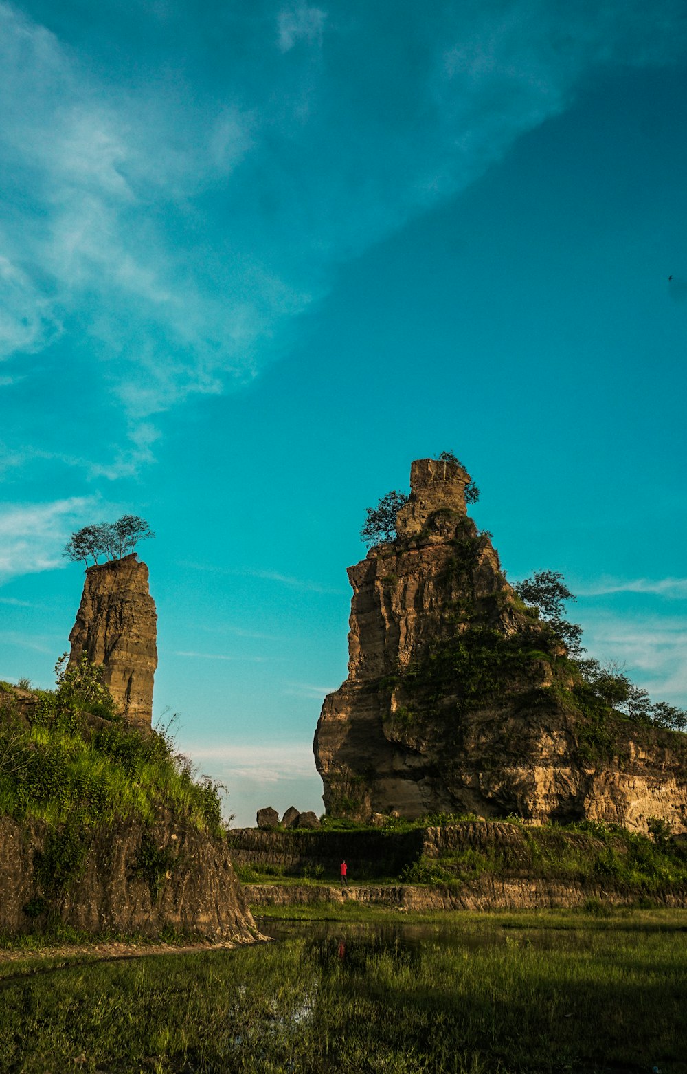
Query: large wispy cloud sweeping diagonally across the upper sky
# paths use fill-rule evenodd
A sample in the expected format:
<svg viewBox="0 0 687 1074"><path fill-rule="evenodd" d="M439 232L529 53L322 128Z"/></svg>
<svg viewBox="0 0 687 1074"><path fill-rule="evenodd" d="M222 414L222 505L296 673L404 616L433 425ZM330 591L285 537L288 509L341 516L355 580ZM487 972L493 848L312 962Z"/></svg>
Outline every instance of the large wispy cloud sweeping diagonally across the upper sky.
<svg viewBox="0 0 687 1074"><path fill-rule="evenodd" d="M341 261L465 189L589 70L668 62L687 37L677 0L251 12L189 91L184 64L100 78L0 0L0 353L24 373L61 336L96 357L128 447L74 459L94 477L154 460L156 415L254 378ZM413 66L388 62L408 43Z"/></svg>

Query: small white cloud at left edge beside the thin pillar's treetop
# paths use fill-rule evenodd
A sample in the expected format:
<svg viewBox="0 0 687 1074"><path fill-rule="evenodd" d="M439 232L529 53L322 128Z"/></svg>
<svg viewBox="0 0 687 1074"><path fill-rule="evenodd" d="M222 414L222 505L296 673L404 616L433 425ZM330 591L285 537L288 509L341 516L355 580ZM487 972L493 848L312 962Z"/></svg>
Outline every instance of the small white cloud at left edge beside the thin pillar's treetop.
<svg viewBox="0 0 687 1074"><path fill-rule="evenodd" d="M70 532L97 504L94 497L73 496L52 504L0 505L0 581L63 566Z"/></svg>

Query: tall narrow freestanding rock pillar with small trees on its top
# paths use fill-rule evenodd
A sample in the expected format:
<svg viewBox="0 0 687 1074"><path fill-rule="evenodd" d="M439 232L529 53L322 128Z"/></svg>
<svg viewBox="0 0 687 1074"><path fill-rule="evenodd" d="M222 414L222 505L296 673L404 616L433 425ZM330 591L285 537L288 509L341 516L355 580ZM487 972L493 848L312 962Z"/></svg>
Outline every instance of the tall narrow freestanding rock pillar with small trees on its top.
<svg viewBox="0 0 687 1074"><path fill-rule="evenodd" d="M148 568L135 552L88 568L69 640L70 664L84 653L92 664L102 664L105 685L122 714L149 727L158 666L157 614Z"/></svg>

